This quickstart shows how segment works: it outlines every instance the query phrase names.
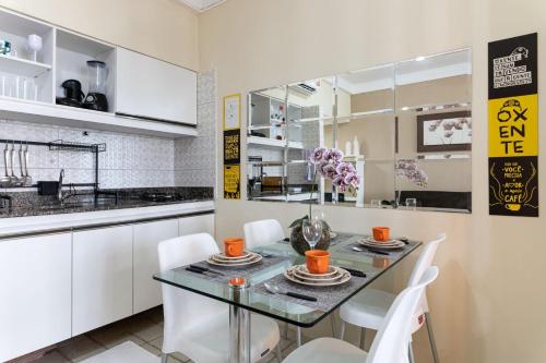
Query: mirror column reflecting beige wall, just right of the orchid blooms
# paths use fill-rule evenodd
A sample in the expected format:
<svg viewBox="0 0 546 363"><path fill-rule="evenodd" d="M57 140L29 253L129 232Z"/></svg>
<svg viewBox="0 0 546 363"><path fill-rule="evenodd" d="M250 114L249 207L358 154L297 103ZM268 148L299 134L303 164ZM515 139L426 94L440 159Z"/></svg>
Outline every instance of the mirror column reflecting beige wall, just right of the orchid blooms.
<svg viewBox="0 0 546 363"><path fill-rule="evenodd" d="M339 195L340 203L394 199L394 64L341 74L336 81L337 147L363 177L358 191ZM333 130L327 125L327 141Z"/></svg>

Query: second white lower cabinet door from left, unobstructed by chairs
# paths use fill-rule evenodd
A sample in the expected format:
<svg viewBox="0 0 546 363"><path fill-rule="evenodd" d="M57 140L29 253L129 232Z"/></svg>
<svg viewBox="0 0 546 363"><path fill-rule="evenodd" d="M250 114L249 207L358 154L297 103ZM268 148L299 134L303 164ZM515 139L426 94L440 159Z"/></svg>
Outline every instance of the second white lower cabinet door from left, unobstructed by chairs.
<svg viewBox="0 0 546 363"><path fill-rule="evenodd" d="M73 234L72 334L132 314L132 226Z"/></svg>

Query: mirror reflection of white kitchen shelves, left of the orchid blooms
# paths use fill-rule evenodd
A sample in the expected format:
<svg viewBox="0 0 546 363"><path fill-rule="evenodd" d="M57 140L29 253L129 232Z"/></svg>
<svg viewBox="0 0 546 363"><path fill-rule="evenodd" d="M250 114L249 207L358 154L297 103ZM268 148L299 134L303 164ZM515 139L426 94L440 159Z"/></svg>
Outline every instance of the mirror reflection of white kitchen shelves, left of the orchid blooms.
<svg viewBox="0 0 546 363"><path fill-rule="evenodd" d="M322 181L314 178L309 157L324 144L323 122L332 118L333 92L332 77L323 77L250 93L248 170L250 165L257 169L257 162L263 170L248 172L253 185L249 198L323 201ZM269 133L259 132L262 128Z"/></svg>

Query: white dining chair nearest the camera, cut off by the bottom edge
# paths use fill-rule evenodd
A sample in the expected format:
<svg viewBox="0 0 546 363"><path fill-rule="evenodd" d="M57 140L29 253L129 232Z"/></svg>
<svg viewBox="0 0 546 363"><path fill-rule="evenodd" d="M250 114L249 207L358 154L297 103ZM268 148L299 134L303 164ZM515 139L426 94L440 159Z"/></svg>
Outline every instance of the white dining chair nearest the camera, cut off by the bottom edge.
<svg viewBox="0 0 546 363"><path fill-rule="evenodd" d="M438 276L438 268L427 268L419 283L403 290L387 313L369 353L333 338L320 338L296 349L284 363L407 363L415 308L425 288Z"/></svg>

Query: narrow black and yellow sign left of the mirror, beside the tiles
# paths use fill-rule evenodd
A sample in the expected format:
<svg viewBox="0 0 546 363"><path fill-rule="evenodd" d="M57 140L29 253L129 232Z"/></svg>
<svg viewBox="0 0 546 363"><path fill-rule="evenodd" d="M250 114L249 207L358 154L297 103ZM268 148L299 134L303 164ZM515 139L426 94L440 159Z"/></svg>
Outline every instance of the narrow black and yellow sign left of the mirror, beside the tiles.
<svg viewBox="0 0 546 363"><path fill-rule="evenodd" d="M224 198L240 199L240 95L224 97Z"/></svg>

